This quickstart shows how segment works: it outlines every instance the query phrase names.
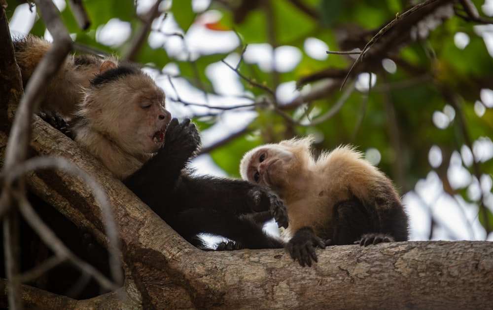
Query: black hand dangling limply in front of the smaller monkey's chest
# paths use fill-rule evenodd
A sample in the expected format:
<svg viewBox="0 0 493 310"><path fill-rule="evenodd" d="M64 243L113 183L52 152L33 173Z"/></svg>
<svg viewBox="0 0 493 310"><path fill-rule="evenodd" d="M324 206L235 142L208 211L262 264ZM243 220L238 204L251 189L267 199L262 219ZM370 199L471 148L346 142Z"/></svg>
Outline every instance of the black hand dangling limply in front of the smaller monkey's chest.
<svg viewBox="0 0 493 310"><path fill-rule="evenodd" d="M249 191L250 197L253 199L253 203L256 208L253 211L262 212L269 210L271 216L278 223L278 227L287 228L288 217L286 206L282 202L281 198L270 189L265 187L257 187Z"/></svg>

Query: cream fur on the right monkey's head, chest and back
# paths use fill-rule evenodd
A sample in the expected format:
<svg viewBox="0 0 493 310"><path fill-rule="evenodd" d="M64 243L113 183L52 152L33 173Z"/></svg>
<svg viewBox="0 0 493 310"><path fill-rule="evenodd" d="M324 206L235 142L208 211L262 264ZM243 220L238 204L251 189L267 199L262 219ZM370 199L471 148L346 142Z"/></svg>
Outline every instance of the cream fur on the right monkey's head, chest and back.
<svg viewBox="0 0 493 310"><path fill-rule="evenodd" d="M326 229L332 227L334 205L352 195L362 202L385 208L375 202L375 192L381 189L382 182L393 189L388 178L353 147L340 146L315 159L312 142L308 137L263 145L247 152L240 164L243 179L257 183L252 175L260 154L282 158L289 158L286 153L292 154L292 159L282 165L273 165L275 170L271 168L269 173L271 184L262 179L258 182L269 186L283 199L289 217L289 227L283 232L287 238L303 227L311 227L317 235L324 236Z"/></svg>

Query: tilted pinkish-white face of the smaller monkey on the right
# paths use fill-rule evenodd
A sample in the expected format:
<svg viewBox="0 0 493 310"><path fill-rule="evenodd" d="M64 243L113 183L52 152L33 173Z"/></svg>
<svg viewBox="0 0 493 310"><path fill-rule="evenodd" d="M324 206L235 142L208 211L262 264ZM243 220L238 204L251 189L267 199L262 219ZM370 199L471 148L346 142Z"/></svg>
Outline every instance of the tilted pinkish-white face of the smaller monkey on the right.
<svg viewBox="0 0 493 310"><path fill-rule="evenodd" d="M246 178L249 182L267 186L282 194L293 161L296 161L296 157L279 145L262 147L251 154L246 166Z"/></svg>

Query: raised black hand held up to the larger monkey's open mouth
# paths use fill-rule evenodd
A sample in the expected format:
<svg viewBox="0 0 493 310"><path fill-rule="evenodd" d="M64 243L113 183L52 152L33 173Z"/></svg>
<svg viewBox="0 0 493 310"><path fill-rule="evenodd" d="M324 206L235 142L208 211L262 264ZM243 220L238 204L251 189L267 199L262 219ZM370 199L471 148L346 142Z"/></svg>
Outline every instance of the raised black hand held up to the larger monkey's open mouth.
<svg viewBox="0 0 493 310"><path fill-rule="evenodd" d="M200 145L200 135L197 126L190 122L189 118L183 119L178 123L178 119L173 118L166 129L164 145L158 151L160 153L171 154L175 158L188 160Z"/></svg>

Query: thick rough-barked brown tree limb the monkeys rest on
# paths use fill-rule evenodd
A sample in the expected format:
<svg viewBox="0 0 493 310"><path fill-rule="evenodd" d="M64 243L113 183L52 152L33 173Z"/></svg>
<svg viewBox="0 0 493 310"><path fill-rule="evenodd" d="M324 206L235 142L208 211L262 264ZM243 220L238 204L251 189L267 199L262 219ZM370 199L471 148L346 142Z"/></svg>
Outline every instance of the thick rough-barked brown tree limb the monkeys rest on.
<svg viewBox="0 0 493 310"><path fill-rule="evenodd" d="M6 141L0 132L0 141ZM0 145L0 148L4 147ZM195 249L112 177L99 162L36 117L33 155L63 155L106 189L115 214L125 286L78 308L488 308L493 247L487 241L397 242L333 246L301 268L284 250ZM99 207L84 184L64 172L37 172L31 190L105 241ZM74 207L77 206L77 207ZM3 290L2 290L3 291ZM29 305L48 293L26 288ZM26 296L26 295L24 295ZM55 301L55 299L54 299ZM51 308L50 305L49 308Z"/></svg>

